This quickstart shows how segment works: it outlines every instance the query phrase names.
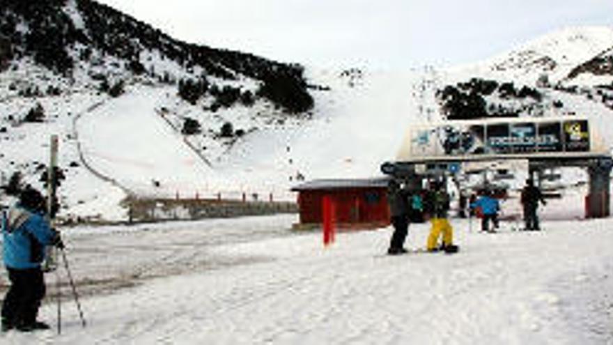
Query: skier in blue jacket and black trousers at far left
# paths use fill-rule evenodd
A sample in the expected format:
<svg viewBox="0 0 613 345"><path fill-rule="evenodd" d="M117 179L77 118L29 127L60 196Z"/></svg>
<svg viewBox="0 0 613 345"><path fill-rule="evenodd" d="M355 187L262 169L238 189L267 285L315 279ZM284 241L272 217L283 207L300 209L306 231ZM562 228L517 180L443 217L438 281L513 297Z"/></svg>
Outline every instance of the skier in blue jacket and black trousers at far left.
<svg viewBox="0 0 613 345"><path fill-rule="evenodd" d="M45 259L45 246L63 248L63 243L59 233L49 227L44 213L45 198L31 187L20 193L15 206L3 211L3 261L10 280L2 303L3 331L49 328L36 320L40 302L45 297L41 263Z"/></svg>

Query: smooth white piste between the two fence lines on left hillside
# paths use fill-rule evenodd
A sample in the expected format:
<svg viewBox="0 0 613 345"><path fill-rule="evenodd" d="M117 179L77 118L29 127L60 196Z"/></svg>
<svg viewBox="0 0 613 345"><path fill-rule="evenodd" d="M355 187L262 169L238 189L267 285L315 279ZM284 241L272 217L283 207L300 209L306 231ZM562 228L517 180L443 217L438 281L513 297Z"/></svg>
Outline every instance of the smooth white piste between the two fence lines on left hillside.
<svg viewBox="0 0 613 345"><path fill-rule="evenodd" d="M141 196L206 187L210 168L157 112L170 92L138 87L84 114L76 127L91 168Z"/></svg>

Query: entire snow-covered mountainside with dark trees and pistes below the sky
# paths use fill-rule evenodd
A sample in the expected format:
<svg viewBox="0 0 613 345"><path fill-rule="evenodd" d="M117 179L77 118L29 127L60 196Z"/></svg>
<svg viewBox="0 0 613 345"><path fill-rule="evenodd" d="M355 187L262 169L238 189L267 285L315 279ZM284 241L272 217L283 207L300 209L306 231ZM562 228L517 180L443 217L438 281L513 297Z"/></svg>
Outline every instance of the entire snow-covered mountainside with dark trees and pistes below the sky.
<svg viewBox="0 0 613 345"><path fill-rule="evenodd" d="M40 186L59 134L63 217L125 219L127 194L292 199L302 179L378 176L408 125L444 116L437 91L473 78L541 94L504 107L593 115L613 137L612 28L564 29L451 70L304 70L181 43L95 1L5 2L0 184Z"/></svg>

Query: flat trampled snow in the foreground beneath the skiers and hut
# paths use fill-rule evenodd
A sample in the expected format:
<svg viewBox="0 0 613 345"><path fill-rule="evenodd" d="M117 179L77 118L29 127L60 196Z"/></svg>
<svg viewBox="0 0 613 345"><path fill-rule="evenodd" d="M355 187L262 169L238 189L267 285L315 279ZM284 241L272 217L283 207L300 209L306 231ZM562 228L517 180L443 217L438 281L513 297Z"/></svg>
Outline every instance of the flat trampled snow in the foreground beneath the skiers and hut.
<svg viewBox="0 0 613 345"><path fill-rule="evenodd" d="M391 227L325 248L318 231L289 230L293 215L67 229L87 327L64 300L62 335L0 342L613 344L613 221L577 221L580 210L552 201L542 232L453 219L454 255L387 256ZM412 224L407 247L424 247L428 228ZM40 314L50 323L54 282Z"/></svg>

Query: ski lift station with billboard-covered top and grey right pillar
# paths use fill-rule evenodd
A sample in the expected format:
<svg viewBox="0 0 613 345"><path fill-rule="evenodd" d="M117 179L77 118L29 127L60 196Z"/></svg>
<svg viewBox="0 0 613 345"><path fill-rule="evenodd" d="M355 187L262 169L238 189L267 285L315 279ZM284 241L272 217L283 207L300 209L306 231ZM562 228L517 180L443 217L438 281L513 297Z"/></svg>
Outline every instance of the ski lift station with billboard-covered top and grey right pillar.
<svg viewBox="0 0 613 345"><path fill-rule="evenodd" d="M457 178L475 165L523 162L539 184L552 181L555 169L580 167L589 175L586 217L610 215L613 160L588 118L496 118L445 121L408 128L394 162L381 166L394 178ZM521 166L521 164L520 164ZM499 169L499 175L508 169Z"/></svg>

